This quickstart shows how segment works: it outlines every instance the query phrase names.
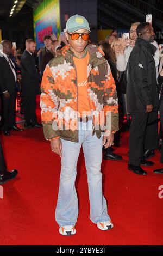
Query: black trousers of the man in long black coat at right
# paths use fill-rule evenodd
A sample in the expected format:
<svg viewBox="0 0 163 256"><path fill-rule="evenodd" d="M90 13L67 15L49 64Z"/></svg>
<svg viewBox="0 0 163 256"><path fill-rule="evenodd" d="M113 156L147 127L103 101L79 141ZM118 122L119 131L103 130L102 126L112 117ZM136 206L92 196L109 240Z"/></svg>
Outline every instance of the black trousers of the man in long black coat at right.
<svg viewBox="0 0 163 256"><path fill-rule="evenodd" d="M129 162L134 166L139 166L140 161L143 159L143 151L145 147L147 147L145 145L148 144L149 149L158 147L158 123L151 125L149 130L147 128L149 127L147 124L151 123L151 120L153 120L157 114L158 112L131 114ZM147 142L147 138L151 140L151 142Z"/></svg>

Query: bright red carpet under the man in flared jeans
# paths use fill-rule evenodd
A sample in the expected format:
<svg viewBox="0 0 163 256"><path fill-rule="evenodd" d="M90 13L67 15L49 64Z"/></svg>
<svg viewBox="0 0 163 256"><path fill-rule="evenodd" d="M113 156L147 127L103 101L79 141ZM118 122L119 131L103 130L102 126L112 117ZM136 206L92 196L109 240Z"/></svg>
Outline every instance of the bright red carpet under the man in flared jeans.
<svg viewBox="0 0 163 256"><path fill-rule="evenodd" d="M38 114L40 110L38 109ZM77 234L61 236L54 220L60 175L60 158L52 154L42 129L11 131L2 137L8 169L18 169L17 178L3 185L0 199L1 245L162 245L163 198L158 197L163 175L160 153L144 168L147 176L127 170L128 133L122 133L122 147L115 152L122 161L103 160L104 195L114 222L110 231L101 231L89 219L86 170L81 152L78 161L77 192L79 217ZM163 193L162 193L163 194Z"/></svg>

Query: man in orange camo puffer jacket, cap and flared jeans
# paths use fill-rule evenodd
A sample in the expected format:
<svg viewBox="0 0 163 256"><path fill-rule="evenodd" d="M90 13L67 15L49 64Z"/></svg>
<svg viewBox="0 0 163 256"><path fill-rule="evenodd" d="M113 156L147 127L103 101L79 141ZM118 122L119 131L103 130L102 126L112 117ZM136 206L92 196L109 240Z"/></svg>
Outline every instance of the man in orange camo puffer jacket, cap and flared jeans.
<svg viewBox="0 0 163 256"><path fill-rule="evenodd" d="M113 227L102 192L101 162L103 145L109 147L118 130L117 94L104 53L88 45L89 32L83 16L70 17L65 33L69 45L48 63L42 78L43 131L52 151L61 157L55 218L62 235L76 233L78 199L74 183L82 145L91 221L101 230Z"/></svg>

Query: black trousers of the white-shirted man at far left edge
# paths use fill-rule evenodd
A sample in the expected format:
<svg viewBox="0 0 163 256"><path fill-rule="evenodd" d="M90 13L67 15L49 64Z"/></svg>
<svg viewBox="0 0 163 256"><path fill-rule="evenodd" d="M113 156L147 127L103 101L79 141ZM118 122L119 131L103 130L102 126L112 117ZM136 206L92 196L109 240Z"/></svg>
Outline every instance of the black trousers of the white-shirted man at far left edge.
<svg viewBox="0 0 163 256"><path fill-rule="evenodd" d="M10 99L7 99L2 95L3 101L3 131L8 131L15 126L15 104L16 104L16 92L10 95Z"/></svg>

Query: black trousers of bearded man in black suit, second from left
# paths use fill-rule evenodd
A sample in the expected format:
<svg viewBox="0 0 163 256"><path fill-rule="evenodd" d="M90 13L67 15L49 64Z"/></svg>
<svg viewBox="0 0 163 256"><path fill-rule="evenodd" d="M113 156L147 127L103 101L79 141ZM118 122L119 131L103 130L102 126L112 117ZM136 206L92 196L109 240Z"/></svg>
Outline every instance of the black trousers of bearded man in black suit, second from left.
<svg viewBox="0 0 163 256"><path fill-rule="evenodd" d="M27 124L30 122L34 125L36 120L36 94L34 92L26 92L23 97L24 117Z"/></svg>

